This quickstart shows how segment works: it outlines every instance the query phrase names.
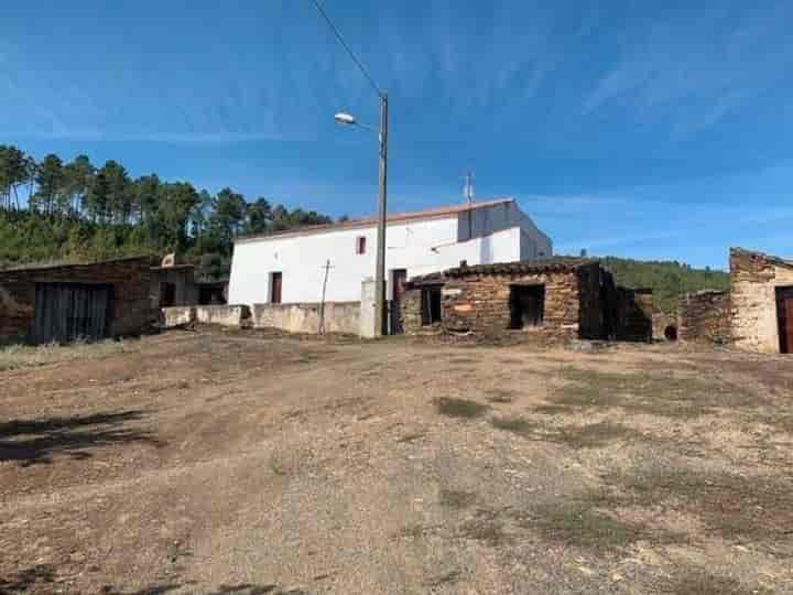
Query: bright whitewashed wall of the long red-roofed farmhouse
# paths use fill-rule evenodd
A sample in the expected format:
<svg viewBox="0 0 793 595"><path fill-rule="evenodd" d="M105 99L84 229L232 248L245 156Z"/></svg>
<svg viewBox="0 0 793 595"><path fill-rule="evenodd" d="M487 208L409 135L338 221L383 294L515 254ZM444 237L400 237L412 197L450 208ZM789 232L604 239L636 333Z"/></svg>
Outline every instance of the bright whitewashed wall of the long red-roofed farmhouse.
<svg viewBox="0 0 793 595"><path fill-rule="evenodd" d="M520 260L521 228L511 227L458 242L458 217L389 224L385 268L406 269L408 278L459 266ZM356 239L366 237L366 253L356 255ZM283 303L318 302L324 266L328 273L326 301L360 300L361 282L374 275L377 227L338 229L285 237L238 240L231 263L229 303L270 301L270 274L281 272ZM391 283L389 282L389 294Z"/></svg>

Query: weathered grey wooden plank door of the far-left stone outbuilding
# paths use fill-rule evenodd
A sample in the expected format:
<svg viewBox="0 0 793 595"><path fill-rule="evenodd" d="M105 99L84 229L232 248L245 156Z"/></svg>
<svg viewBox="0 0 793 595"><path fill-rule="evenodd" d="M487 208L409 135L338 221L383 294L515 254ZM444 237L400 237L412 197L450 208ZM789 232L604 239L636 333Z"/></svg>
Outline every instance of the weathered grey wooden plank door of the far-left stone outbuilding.
<svg viewBox="0 0 793 595"><path fill-rule="evenodd" d="M110 336L112 285L36 283L33 343Z"/></svg>

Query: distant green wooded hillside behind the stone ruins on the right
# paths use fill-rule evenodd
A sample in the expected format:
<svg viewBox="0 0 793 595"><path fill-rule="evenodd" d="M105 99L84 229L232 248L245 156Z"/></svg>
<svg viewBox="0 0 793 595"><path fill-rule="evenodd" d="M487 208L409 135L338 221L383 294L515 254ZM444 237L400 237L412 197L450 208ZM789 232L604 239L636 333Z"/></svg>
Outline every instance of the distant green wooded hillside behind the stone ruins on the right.
<svg viewBox="0 0 793 595"><path fill-rule="evenodd" d="M667 314L676 314L681 293L705 289L729 289L729 275L724 271L693 269L677 261L641 261L623 258L601 258L617 283L627 288L652 288L655 303Z"/></svg>

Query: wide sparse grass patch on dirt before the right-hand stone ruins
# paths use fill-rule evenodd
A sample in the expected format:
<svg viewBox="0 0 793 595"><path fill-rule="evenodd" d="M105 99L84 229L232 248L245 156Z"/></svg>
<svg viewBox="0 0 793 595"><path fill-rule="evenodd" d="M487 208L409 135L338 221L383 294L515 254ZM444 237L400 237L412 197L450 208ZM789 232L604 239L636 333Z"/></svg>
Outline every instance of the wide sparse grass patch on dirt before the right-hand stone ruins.
<svg viewBox="0 0 793 595"><path fill-rule="evenodd" d="M761 399L716 378L673 374L615 374L567 368L567 383L552 397L555 404L575 408L613 407L663 418L691 419L716 408L758 407Z"/></svg>

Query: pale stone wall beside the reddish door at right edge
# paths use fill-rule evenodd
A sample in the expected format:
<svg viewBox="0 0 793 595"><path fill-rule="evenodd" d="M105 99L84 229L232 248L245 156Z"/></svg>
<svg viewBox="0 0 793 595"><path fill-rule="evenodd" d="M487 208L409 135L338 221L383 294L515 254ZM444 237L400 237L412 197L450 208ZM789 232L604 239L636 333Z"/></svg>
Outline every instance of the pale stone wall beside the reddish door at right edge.
<svg viewBox="0 0 793 595"><path fill-rule="evenodd" d="M768 354L780 350L776 288L793 285L793 262L739 248L730 249L732 339L736 347Z"/></svg>

